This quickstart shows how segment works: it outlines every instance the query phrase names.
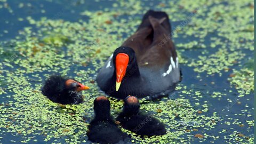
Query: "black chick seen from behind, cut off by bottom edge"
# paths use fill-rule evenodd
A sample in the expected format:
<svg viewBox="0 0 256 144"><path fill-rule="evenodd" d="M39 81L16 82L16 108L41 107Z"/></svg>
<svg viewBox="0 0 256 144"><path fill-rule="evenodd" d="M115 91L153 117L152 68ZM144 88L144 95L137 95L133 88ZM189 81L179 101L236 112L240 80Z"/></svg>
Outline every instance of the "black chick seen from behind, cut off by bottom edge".
<svg viewBox="0 0 256 144"><path fill-rule="evenodd" d="M128 136L118 128L110 115L110 102L104 97L94 100L94 119L91 121L87 136L97 143L123 143Z"/></svg>

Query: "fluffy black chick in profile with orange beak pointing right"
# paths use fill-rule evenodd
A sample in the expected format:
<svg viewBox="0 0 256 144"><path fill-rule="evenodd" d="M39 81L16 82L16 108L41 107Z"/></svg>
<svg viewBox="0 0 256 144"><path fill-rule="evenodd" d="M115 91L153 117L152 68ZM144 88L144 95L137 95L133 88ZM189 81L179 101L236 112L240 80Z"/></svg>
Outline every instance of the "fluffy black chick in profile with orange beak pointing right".
<svg viewBox="0 0 256 144"><path fill-rule="evenodd" d="M81 91L90 89L74 79L61 76L50 76L42 87L42 94L53 102L78 104L83 102Z"/></svg>

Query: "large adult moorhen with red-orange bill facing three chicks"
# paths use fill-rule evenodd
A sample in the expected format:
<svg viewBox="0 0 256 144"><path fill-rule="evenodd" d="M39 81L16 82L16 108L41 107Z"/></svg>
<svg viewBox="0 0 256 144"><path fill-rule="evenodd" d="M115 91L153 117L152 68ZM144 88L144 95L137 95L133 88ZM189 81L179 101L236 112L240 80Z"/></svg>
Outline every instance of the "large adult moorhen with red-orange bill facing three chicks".
<svg viewBox="0 0 256 144"><path fill-rule="evenodd" d="M180 78L168 15L149 10L135 34L100 69L96 81L111 97L155 98L173 91Z"/></svg>

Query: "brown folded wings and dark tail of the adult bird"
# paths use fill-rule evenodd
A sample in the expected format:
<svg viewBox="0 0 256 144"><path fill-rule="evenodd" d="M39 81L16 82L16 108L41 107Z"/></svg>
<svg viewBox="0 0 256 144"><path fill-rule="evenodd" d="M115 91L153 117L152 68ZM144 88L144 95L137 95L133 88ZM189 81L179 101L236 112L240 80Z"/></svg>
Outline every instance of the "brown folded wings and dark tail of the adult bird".
<svg viewBox="0 0 256 144"><path fill-rule="evenodd" d="M170 58L177 57L171 40L171 27L165 12L148 11L135 34L122 46L131 47L140 67L163 68L170 65ZM163 44L164 43L164 44Z"/></svg>

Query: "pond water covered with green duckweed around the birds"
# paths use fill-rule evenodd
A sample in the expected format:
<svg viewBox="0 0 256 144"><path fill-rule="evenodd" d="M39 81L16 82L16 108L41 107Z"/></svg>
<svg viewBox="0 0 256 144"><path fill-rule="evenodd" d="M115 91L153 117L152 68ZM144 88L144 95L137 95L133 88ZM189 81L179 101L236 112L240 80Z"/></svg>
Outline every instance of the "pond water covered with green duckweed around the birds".
<svg viewBox="0 0 256 144"><path fill-rule="evenodd" d="M0 0L0 10L15 12L8 3ZM17 6L26 10L22 4ZM24 143L88 142L93 100L103 95L93 79L109 55L134 33L141 15L154 7L169 14L185 77L169 97L140 100L142 111L166 125L166 135L149 138L122 131L134 143L252 143L252 5L247 0L130 0L101 10L77 10L77 21L25 15L18 22L29 26L0 43L0 141L12 135L17 139L10 141ZM73 76L91 87L83 94L85 102L59 105L44 97L42 84L53 73ZM109 100L111 114L117 116L123 101Z"/></svg>

